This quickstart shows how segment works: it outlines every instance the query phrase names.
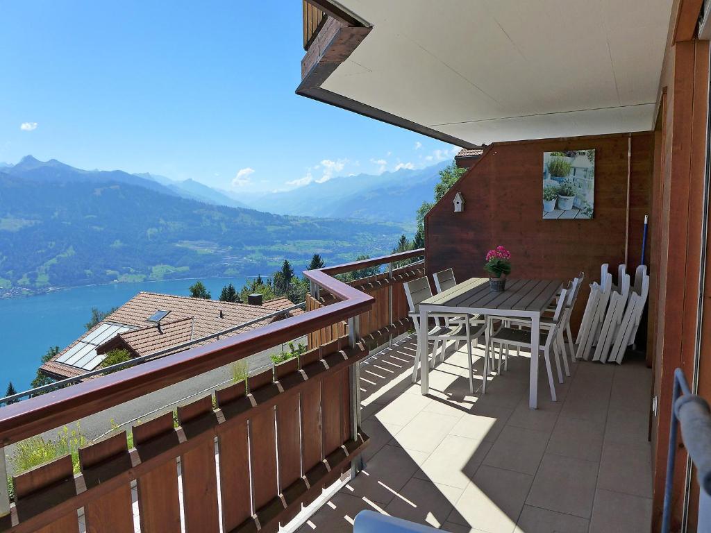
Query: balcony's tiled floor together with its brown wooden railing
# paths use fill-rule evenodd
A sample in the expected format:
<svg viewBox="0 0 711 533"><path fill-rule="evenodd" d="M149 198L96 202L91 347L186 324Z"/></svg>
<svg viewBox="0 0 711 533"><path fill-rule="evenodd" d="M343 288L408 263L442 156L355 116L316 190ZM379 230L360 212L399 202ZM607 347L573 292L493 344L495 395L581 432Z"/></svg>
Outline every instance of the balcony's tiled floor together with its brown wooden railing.
<svg viewBox="0 0 711 533"><path fill-rule="evenodd" d="M309 340L298 359L146 417L128 439L116 431L80 449L78 473L64 456L16 475L0 531L351 532L363 509L450 532L646 529L643 361L575 363L558 402L531 411L528 355L491 376L484 396L483 347L474 394L466 355L451 347L422 396L402 284L424 269L395 266L423 252L309 271L301 316L0 408L11 449L288 338ZM348 284L333 277L380 264L387 271Z"/></svg>

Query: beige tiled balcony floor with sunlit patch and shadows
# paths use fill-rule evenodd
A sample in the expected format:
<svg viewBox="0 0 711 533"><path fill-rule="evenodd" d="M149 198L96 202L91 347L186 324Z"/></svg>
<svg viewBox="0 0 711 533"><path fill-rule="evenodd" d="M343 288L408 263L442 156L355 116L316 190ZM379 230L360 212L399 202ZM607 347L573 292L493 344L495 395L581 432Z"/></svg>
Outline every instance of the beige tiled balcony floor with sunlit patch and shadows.
<svg viewBox="0 0 711 533"><path fill-rule="evenodd" d="M453 351L453 350L452 350ZM539 409L528 409L528 353L511 357L482 396L483 350L469 394L466 352L410 376L408 338L361 366L365 470L299 533L351 532L360 510L449 532L647 532L651 370L577 362L551 402L540 365Z"/></svg>

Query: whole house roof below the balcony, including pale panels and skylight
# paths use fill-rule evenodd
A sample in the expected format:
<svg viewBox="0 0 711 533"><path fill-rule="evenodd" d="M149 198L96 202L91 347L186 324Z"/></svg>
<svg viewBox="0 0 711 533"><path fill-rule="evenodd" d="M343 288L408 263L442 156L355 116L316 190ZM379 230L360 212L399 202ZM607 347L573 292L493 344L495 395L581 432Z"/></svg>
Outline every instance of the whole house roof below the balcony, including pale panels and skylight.
<svg viewBox="0 0 711 533"><path fill-rule="evenodd" d="M173 347L178 352L186 349L186 343L240 324L249 323L244 328L225 333L222 338L302 312L292 309L274 316L274 311L292 306L293 303L283 297L265 301L262 305L249 305L140 292L43 364L40 370L53 379L65 379L97 369L107 353L117 348L127 350L131 357L165 352ZM217 339L192 343L189 347L213 340Z"/></svg>

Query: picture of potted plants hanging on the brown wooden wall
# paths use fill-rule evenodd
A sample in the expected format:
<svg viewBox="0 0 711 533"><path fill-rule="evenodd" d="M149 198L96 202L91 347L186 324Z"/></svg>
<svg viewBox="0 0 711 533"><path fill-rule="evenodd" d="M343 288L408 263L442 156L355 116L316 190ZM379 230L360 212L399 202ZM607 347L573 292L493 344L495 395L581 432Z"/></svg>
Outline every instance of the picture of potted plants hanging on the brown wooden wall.
<svg viewBox="0 0 711 533"><path fill-rule="evenodd" d="M543 152L543 218L592 218L595 151Z"/></svg>

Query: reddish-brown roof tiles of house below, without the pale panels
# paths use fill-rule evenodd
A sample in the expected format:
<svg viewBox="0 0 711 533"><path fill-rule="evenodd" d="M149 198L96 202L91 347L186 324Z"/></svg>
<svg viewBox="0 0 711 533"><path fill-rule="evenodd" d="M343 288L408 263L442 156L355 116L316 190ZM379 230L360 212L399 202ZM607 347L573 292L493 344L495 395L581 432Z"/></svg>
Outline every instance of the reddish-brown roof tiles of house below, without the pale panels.
<svg viewBox="0 0 711 533"><path fill-rule="evenodd" d="M118 323L136 328L132 331L124 332L112 339L107 339L99 348L97 353L105 353L119 346L129 349L132 355L147 355L159 350L171 348L188 340L206 337L213 333L234 328L237 325L255 321L267 316L279 309L292 306L293 303L288 298L274 298L265 301L262 306L250 306L246 303L232 303L218 300L204 300L201 298L190 298L188 296L174 296L171 294L157 294L150 292L140 292L127 303L124 303L116 311L107 316L101 323ZM156 311L169 311L168 315L161 320L160 328L156 323L147 319ZM289 316L302 313L301 310L289 311ZM264 318L252 325L240 328L235 332L225 335L226 337L237 335L263 325L267 325L278 318ZM85 370L65 365L57 362L64 352L72 348L76 343L82 341L99 325L87 331L85 335L75 340L74 343L58 353L50 361L42 365L41 369L48 374L61 377L75 377L81 375ZM205 341L206 344L210 341ZM197 345L197 344L196 344Z"/></svg>

